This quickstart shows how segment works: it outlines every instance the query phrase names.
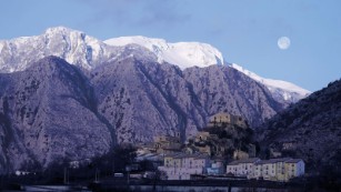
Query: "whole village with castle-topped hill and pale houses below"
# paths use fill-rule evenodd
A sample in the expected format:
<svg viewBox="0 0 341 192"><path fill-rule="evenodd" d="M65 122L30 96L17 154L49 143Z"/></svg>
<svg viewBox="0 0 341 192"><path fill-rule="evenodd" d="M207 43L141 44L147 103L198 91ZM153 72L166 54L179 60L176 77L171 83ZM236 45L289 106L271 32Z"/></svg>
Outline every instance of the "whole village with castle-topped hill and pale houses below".
<svg viewBox="0 0 341 192"><path fill-rule="evenodd" d="M175 132L139 144L137 161L153 162L162 180L222 176L287 182L304 174L301 159L257 158L259 146L252 143L252 132L241 117L218 113L210 118L207 128L184 143Z"/></svg>

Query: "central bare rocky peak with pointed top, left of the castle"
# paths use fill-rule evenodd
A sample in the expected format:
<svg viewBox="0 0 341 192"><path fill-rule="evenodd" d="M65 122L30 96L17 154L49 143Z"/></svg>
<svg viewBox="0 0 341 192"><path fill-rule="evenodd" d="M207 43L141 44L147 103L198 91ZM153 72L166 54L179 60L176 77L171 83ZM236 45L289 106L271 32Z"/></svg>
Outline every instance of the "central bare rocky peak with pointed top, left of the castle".
<svg viewBox="0 0 341 192"><path fill-rule="evenodd" d="M203 111L192 102L189 83L174 65L129 58L94 70L91 82L99 112L117 128L119 142L152 141L179 130L184 139L187 128L195 131L193 125L204 123Z"/></svg>

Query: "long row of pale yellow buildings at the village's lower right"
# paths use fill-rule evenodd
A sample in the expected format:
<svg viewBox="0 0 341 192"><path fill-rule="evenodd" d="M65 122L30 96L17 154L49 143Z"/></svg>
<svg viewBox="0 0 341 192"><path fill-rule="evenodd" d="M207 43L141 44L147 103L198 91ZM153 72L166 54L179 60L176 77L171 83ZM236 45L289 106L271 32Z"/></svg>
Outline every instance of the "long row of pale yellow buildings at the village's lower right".
<svg viewBox="0 0 341 192"><path fill-rule="evenodd" d="M270 160L251 158L229 163L227 174L258 180L289 181L304 174L304 162L301 159L291 158Z"/></svg>

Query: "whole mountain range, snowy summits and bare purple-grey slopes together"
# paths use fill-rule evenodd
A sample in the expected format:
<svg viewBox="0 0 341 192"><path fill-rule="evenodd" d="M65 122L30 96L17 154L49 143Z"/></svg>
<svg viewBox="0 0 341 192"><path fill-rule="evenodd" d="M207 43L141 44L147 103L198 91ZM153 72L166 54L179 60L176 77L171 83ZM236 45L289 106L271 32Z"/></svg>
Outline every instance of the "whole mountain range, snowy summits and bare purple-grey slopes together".
<svg viewBox="0 0 341 192"><path fill-rule="evenodd" d="M255 128L309 94L241 72L209 44L100 41L63 27L0 41L0 172L175 131L184 141L218 112Z"/></svg>

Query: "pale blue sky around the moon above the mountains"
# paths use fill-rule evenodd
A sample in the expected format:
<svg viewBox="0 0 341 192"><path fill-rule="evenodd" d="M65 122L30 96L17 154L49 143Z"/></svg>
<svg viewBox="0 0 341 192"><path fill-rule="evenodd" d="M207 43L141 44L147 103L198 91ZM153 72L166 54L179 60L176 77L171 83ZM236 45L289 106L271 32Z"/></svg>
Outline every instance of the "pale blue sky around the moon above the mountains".
<svg viewBox="0 0 341 192"><path fill-rule="evenodd" d="M0 0L0 39L64 26L101 40L200 41L225 61L311 91L341 78L340 0ZM288 50L277 41L291 39Z"/></svg>

